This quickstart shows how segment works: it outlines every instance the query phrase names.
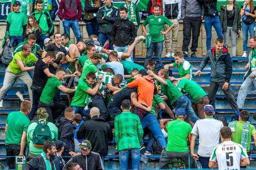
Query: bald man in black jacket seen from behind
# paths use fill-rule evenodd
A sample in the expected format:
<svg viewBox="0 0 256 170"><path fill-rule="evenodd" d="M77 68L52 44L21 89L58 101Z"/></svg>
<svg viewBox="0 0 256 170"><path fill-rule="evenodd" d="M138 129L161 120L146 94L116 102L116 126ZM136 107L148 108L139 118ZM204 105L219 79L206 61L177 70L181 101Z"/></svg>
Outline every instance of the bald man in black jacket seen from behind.
<svg viewBox="0 0 256 170"><path fill-rule="evenodd" d="M91 119L85 121L77 130L77 139L87 139L92 144L92 152L99 153L100 156L108 155L108 142L113 140L113 133L105 122L105 119L99 117L99 109L94 107L90 110Z"/></svg>

